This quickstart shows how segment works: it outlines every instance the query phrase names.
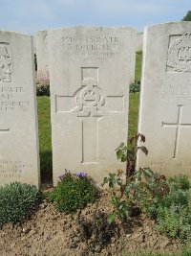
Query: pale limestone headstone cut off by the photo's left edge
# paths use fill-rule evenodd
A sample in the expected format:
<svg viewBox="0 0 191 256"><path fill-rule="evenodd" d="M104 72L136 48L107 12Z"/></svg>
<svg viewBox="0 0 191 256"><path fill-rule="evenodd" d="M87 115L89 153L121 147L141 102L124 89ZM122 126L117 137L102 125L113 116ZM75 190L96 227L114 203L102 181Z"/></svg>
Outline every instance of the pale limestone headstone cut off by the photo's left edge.
<svg viewBox="0 0 191 256"><path fill-rule="evenodd" d="M0 31L0 185L39 187L32 36Z"/></svg>

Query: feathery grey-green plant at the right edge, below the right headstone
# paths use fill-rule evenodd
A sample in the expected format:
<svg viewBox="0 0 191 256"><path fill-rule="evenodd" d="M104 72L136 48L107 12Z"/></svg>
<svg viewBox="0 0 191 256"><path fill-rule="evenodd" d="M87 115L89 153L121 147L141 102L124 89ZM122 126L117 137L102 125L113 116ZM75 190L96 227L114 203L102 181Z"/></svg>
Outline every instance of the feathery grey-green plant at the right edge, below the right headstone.
<svg viewBox="0 0 191 256"><path fill-rule="evenodd" d="M170 193L159 201L157 229L170 237L191 239L191 183L186 175L169 178Z"/></svg>

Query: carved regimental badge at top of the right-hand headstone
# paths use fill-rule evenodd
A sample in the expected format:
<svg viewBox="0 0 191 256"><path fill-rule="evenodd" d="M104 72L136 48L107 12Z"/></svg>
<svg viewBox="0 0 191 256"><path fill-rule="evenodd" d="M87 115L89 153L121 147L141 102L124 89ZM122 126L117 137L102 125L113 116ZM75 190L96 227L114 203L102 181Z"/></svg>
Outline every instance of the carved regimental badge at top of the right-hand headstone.
<svg viewBox="0 0 191 256"><path fill-rule="evenodd" d="M191 72L191 31L172 36L167 57L167 71Z"/></svg>

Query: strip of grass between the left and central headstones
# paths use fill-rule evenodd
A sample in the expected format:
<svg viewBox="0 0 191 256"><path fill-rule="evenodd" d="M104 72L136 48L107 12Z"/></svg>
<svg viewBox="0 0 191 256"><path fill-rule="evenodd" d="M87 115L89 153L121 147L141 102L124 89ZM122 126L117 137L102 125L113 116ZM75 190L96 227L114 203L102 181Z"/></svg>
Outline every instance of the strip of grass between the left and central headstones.
<svg viewBox="0 0 191 256"><path fill-rule="evenodd" d="M38 128L40 148L40 170L42 183L52 183L52 139L51 139L51 101L49 97L37 97Z"/></svg>

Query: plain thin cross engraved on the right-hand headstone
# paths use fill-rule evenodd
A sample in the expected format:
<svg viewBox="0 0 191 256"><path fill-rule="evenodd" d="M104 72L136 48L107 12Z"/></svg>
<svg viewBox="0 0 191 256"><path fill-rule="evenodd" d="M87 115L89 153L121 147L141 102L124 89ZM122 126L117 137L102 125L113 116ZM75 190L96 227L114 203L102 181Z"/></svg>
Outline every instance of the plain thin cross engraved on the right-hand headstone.
<svg viewBox="0 0 191 256"><path fill-rule="evenodd" d="M173 153L173 159L178 158L178 150L179 150L179 143L180 143L180 128L191 128L191 124L181 124L181 115L182 115L182 108L183 105L178 105L178 116L176 123L166 123L162 122L162 128L176 128L176 137L175 137L175 148Z"/></svg>

